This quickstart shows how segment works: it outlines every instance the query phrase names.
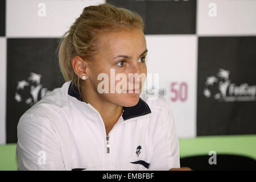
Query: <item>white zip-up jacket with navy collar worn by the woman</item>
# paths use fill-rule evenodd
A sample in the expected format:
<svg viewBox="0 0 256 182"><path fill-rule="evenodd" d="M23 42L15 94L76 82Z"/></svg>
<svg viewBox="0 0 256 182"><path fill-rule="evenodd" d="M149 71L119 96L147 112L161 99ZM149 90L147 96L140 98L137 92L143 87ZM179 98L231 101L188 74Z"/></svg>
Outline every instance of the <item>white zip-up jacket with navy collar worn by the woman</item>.
<svg viewBox="0 0 256 182"><path fill-rule="evenodd" d="M143 98L143 99L142 99ZM146 101L146 102L145 102ZM106 136L100 113L67 81L20 117L19 170L168 170L179 168L169 102L141 94Z"/></svg>

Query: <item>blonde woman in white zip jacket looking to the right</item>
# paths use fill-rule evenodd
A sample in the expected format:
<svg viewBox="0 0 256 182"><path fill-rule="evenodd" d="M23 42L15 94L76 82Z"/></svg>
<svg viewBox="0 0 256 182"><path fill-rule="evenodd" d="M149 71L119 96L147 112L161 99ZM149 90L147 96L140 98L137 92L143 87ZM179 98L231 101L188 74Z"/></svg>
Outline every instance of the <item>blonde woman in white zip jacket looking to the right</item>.
<svg viewBox="0 0 256 182"><path fill-rule="evenodd" d="M163 98L148 100L141 94L144 78L133 77L147 73L143 30L141 16L129 10L84 8L60 41L66 82L19 120L18 169L180 167L170 105Z"/></svg>

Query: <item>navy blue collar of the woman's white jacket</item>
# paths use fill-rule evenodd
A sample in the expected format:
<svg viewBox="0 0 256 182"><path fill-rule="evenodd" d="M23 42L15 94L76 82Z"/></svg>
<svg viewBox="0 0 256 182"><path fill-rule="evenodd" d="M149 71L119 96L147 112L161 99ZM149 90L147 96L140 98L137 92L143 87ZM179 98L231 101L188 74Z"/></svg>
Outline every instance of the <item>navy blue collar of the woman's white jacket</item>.
<svg viewBox="0 0 256 182"><path fill-rule="evenodd" d="M75 97L77 100L82 101L82 97L79 94L79 90L75 84L69 84L68 88L68 94L69 96ZM141 115L146 115L148 113L151 113L150 107L147 105L145 101L142 100L142 98L139 98L139 102L137 105L132 107L123 107L123 120L139 117Z"/></svg>

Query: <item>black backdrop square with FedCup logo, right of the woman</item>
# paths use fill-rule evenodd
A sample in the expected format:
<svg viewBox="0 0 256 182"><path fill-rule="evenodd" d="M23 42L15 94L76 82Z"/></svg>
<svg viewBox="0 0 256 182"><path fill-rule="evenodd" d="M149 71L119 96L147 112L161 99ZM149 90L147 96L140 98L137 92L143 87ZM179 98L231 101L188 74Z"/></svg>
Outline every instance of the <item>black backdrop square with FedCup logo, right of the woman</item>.
<svg viewBox="0 0 256 182"><path fill-rule="evenodd" d="M256 37L199 37L197 135L256 133Z"/></svg>

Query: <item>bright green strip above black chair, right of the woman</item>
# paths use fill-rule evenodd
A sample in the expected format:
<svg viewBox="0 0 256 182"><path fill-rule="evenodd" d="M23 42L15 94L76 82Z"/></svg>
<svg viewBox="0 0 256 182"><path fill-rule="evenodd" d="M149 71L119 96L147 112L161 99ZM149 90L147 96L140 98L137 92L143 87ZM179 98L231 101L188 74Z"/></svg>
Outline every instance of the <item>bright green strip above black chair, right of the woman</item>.
<svg viewBox="0 0 256 182"><path fill-rule="evenodd" d="M256 160L256 135L216 135L179 139L180 158L195 155L242 155Z"/></svg>

